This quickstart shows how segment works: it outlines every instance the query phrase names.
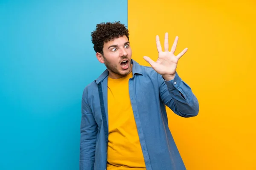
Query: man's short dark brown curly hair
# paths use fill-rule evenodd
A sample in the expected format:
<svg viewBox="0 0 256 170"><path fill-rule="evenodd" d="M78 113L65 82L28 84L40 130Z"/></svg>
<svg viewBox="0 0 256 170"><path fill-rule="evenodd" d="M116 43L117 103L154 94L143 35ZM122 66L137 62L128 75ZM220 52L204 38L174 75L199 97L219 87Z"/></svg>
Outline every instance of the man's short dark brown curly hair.
<svg viewBox="0 0 256 170"><path fill-rule="evenodd" d="M91 33L94 51L103 54L104 43L124 35L129 40L129 31L120 21L97 24L96 30Z"/></svg>

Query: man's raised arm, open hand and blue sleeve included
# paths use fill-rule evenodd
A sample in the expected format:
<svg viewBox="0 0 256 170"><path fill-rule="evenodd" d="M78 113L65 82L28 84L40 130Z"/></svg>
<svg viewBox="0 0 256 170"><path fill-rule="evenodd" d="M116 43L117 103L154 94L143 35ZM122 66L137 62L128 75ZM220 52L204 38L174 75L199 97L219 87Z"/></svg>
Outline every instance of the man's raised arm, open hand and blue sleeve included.
<svg viewBox="0 0 256 170"><path fill-rule="evenodd" d="M177 75L176 68L178 60L186 51L185 48L177 56L174 55L178 37L169 51L168 33L164 38L164 51L160 44L159 36L156 37L158 59L154 62L151 58L144 56L144 59L158 73L158 85L160 98L174 113L183 117L196 116L199 111L198 100L192 93L190 87Z"/></svg>

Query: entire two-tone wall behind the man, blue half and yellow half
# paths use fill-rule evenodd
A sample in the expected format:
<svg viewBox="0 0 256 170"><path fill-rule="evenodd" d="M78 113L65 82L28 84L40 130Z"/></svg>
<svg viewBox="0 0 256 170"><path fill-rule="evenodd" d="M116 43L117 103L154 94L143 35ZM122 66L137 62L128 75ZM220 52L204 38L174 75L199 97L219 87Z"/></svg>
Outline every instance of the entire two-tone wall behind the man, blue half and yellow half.
<svg viewBox="0 0 256 170"><path fill-rule="evenodd" d="M79 169L81 95L105 70L96 23L120 20L133 58L157 59L169 32L177 71L198 97L169 127L188 170L256 169L256 3L231 1L0 1L0 170Z"/></svg>

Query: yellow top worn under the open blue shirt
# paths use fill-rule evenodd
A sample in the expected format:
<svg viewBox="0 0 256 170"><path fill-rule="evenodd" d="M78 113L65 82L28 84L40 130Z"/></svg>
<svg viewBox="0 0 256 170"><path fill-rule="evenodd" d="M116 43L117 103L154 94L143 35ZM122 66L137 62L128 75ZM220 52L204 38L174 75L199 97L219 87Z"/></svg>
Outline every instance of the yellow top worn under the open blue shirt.
<svg viewBox="0 0 256 170"><path fill-rule="evenodd" d="M108 77L107 170L145 170L129 96L128 82L131 77L132 73L120 79Z"/></svg>

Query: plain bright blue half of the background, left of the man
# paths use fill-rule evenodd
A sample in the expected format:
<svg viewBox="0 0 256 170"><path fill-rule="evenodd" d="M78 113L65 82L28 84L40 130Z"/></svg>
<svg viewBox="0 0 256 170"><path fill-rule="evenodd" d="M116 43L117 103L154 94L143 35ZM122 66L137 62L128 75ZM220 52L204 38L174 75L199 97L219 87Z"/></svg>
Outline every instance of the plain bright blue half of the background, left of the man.
<svg viewBox="0 0 256 170"><path fill-rule="evenodd" d="M90 33L127 0L0 1L0 170L77 170L84 87L105 65Z"/></svg>

